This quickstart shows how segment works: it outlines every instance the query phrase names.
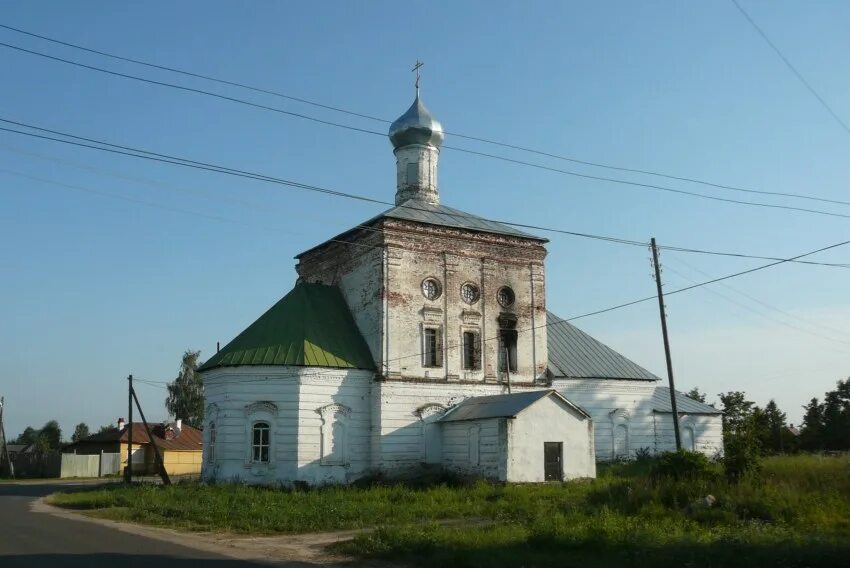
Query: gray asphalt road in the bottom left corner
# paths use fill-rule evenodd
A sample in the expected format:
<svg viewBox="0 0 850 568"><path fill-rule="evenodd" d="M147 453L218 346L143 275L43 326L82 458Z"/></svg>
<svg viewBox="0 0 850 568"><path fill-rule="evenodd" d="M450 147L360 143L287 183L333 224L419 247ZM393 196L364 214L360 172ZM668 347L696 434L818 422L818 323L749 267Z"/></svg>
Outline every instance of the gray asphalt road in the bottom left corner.
<svg viewBox="0 0 850 568"><path fill-rule="evenodd" d="M86 521L32 512L33 501L67 484L0 484L2 568L236 568L268 566ZM84 489L84 487L79 487Z"/></svg>

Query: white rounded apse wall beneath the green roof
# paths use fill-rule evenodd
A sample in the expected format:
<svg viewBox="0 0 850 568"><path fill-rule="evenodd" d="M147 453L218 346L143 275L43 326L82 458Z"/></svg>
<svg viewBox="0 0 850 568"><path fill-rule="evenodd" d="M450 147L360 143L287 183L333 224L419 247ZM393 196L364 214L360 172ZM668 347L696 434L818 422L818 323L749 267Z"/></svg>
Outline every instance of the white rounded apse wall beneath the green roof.
<svg viewBox="0 0 850 568"><path fill-rule="evenodd" d="M273 484L348 481L368 468L369 371L301 367L227 367L203 373L206 402L206 479ZM345 413L342 463L322 464L322 415L328 405ZM332 416L331 416L332 418ZM271 426L270 461L251 457L251 426ZM209 425L215 423L213 460Z"/></svg>

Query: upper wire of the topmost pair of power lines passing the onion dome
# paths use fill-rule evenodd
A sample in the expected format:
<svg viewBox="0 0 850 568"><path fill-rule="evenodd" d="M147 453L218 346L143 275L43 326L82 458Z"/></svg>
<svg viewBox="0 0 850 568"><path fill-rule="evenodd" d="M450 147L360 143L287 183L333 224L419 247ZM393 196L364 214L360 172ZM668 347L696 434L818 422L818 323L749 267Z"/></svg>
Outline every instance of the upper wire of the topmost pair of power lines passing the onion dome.
<svg viewBox="0 0 850 568"><path fill-rule="evenodd" d="M78 45L78 44L58 40L58 39L55 39L55 38L36 34L36 33L29 32L29 31L26 31L26 30L22 30L20 28L15 28L15 27L12 27L12 26L0 24L0 28L4 28L4 29L10 30L10 31L17 32L17 33L24 34L24 35L28 35L28 36L31 36L31 37L35 37L35 38L38 38L38 39L41 39L41 40L44 40L44 41L48 41L48 42L52 42L52 43L55 43L55 44L58 44L58 45L63 45L63 46L70 47L70 48L73 48L73 49L78 49L78 50L85 51L85 52L88 52L88 53L94 53L96 55L101 55L103 57L109 57L109 58L112 58L112 59L115 59L115 60L118 60L118 61L125 61L125 62L133 63L133 64L136 64L136 65L143 65L145 67L150 67L150 68L153 68L153 69L159 69L161 71L178 73L180 75L185 75L187 77L193 77L193 78L196 78L196 79L203 79L205 81L212 81L212 82L215 82L215 83L220 83L222 85L228 85L228 86L232 86L232 87L238 87L238 88L241 88L241 89L246 89L246 90L249 90L249 91L254 91L254 92L257 92L257 93L272 95L272 96L280 97L280 98L283 98L283 99L287 99L287 100L299 102L299 103L302 103L302 104L310 105L310 106L313 106L313 107L316 107L316 108L331 110L331 111L334 111L334 112L339 112L339 113L347 114L347 115L350 115L350 116L356 116L358 118L365 118L365 119L373 120L373 121L380 122L380 123L383 123L383 124L390 124L392 122L391 120L387 120L387 119L384 119L384 118L379 118L379 117L368 115L368 114L354 112L354 111L351 111L351 110L348 110L348 109L319 103L319 102L312 101L310 99L305 99L305 98L302 98L302 97L295 97L295 96L292 96L292 95L287 95L287 94L281 93L279 91L272 91L272 90L269 90L269 89L263 89L263 88L255 87L255 86L248 85L248 84L245 84L245 83L240 83L240 82L237 82L237 81L230 81L230 80L227 80L227 79L212 77L210 75L204 75L204 74L201 74L201 73L186 71L184 69L178 69L178 68L175 68L175 67L168 67L168 66L165 66L165 65L158 65L158 64L155 64L155 63L147 62L147 61L142 61L140 59L133 59L133 58L130 58L130 57L124 57L124 56L116 55L116 54L113 54L113 53L108 53L108 52L97 50L97 49L91 49L91 48L84 47L84 46L81 46L81 45ZM725 189L725 190L729 190L729 191L740 191L740 192L745 192L745 193L753 193L753 194L760 194L760 195L773 195L773 196L780 196L780 197L792 197L792 198L798 198L798 199L820 201L820 202L823 202L823 203L850 205L849 201L827 199L827 198L823 198L823 197L816 197L816 196L805 195L805 194L797 194L797 193L756 190L756 189L744 188L744 187L740 187L740 186L733 186L733 185L721 184L721 183L716 183L716 182L711 182L711 181L705 181L705 180L701 180L701 179L693 178L693 177L675 176L675 175L665 174L665 173L661 173L661 172L657 172L657 171L653 171L653 170L644 170L644 169L639 169L639 168L614 166L614 165L605 164L605 163L602 163L602 162L581 160L581 159L578 159L578 158L573 158L573 157L570 157L570 156L555 154L555 153L552 153L552 152L545 152L543 150L538 150L538 149L535 149L535 148L529 148L529 147L521 146L521 145L518 145L518 144L508 144L506 142L491 140L491 139L483 138L483 137L480 137L480 136L462 134L462 133L459 133L459 132L446 131L446 134L450 135L450 136L455 136L455 137L458 137L458 138L463 138L463 139L466 139L466 140L473 140L473 141L476 141L476 142L482 142L482 143L485 143L485 144L492 144L492 145L500 146L500 147L503 147L503 148L510 148L512 150L519 150L519 151L522 151L522 152L528 152L528 153L536 154L536 155L539 155L539 156L545 156L547 158L554 158L554 159L557 159L557 160L563 160L563 161L572 162L572 163L575 163L575 164L581 164L581 165L591 166L591 167L596 167L596 168L604 168L604 169L613 170L613 171L621 171L621 172L627 172L627 173L636 173L636 174L642 174L642 175L655 176L655 177L666 178L666 179L671 179L671 180L676 180L676 181L684 181L684 182L688 182L688 183L705 185L705 186L708 186L708 187L715 187L715 188L718 188L718 189Z"/></svg>

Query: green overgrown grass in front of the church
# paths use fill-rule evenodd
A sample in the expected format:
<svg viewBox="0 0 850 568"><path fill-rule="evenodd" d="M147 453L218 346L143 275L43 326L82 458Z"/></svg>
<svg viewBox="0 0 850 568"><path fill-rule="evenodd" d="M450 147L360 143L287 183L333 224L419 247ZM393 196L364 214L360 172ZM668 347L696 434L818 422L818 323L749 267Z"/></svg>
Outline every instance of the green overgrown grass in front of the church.
<svg viewBox="0 0 850 568"><path fill-rule="evenodd" d="M653 480L648 463L593 481L283 491L143 485L57 494L55 504L191 530L302 533L378 527L338 551L413 565L839 566L850 558L845 457L765 460L760 478ZM691 506L711 494L711 508ZM443 519L487 519L443 525Z"/></svg>

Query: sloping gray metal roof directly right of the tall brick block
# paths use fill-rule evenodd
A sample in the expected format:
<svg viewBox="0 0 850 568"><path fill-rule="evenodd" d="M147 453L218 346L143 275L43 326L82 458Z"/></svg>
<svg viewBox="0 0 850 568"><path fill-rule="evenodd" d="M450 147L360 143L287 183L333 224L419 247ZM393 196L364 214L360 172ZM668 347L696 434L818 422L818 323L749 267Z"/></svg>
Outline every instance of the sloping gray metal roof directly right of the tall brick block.
<svg viewBox="0 0 850 568"><path fill-rule="evenodd" d="M660 380L552 312L546 318L549 370L555 378Z"/></svg>

